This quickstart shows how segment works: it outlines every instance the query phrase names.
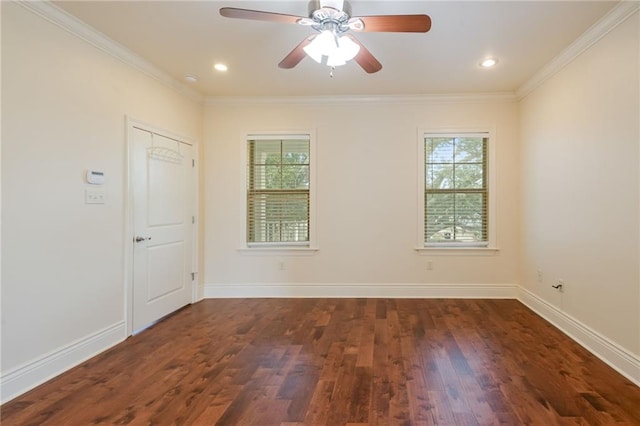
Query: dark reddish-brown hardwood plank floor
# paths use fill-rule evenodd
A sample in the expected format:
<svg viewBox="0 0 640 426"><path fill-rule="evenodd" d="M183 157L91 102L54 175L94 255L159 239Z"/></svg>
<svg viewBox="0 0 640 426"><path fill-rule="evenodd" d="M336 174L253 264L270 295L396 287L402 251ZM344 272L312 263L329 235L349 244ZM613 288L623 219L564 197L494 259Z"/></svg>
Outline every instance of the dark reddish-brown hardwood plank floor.
<svg viewBox="0 0 640 426"><path fill-rule="evenodd" d="M2 425L640 425L640 388L515 300L205 300Z"/></svg>

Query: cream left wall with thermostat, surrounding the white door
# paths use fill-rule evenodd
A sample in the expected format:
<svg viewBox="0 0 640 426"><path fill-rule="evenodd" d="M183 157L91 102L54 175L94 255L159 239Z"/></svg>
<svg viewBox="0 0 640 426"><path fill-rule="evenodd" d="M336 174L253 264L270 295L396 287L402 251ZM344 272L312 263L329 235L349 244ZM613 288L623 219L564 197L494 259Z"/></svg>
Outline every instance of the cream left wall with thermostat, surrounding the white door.
<svg viewBox="0 0 640 426"><path fill-rule="evenodd" d="M201 140L201 103L2 2L3 400L124 338L126 115Z"/></svg>

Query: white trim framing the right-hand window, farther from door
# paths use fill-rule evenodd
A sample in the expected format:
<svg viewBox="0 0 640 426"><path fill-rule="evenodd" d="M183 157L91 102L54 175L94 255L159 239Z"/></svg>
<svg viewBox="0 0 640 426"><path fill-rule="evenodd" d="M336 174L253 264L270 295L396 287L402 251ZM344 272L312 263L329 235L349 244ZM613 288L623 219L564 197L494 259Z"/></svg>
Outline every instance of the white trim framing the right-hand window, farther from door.
<svg viewBox="0 0 640 426"><path fill-rule="evenodd" d="M424 238L425 218L425 147L427 137L448 136L481 136L488 138L487 145L487 243L427 243ZM419 128L417 131L417 239L415 250L418 254L428 255L492 255L499 249L496 232L496 131L493 127L464 127L464 128Z"/></svg>

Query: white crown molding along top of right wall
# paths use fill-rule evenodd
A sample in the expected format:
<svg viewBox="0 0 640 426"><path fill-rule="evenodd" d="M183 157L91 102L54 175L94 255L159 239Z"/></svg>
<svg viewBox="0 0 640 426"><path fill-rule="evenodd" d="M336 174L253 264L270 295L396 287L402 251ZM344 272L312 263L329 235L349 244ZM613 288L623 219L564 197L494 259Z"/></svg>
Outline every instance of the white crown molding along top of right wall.
<svg viewBox="0 0 640 426"><path fill-rule="evenodd" d="M577 58L584 51L596 44L602 37L606 36L618 25L640 9L640 2L623 0L613 9L603 16L598 22L593 24L576 41L563 50L558 56L547 63L540 71L534 74L526 83L516 91L518 100L524 99L528 94L542 85L545 81L553 77L566 67L571 61Z"/></svg>

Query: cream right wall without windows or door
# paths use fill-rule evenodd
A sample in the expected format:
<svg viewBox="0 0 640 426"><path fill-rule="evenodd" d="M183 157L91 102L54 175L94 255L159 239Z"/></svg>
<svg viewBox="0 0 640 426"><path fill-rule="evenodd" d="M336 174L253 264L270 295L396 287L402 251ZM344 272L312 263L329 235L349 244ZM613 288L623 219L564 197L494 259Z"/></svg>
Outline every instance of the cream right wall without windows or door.
<svg viewBox="0 0 640 426"><path fill-rule="evenodd" d="M527 96L520 110L521 285L635 362L637 382L639 28L635 13ZM557 279L563 292L551 288Z"/></svg>

